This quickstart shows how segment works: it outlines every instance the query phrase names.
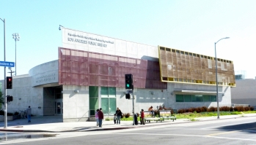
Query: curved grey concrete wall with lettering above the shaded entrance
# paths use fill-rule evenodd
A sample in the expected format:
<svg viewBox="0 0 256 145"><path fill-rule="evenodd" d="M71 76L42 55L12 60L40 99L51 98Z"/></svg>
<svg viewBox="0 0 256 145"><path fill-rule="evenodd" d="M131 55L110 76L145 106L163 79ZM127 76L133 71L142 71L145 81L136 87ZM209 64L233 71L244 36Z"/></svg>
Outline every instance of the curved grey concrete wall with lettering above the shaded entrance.
<svg viewBox="0 0 256 145"><path fill-rule="evenodd" d="M59 82L59 60L43 63L29 70L32 87Z"/></svg>

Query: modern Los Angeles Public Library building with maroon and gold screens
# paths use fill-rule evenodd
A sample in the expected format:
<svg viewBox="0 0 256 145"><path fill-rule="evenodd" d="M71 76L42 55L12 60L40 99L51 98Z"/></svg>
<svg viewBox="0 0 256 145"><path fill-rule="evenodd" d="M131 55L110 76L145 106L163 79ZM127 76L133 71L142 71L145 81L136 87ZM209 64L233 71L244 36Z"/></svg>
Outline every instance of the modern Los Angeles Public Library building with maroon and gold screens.
<svg viewBox="0 0 256 145"><path fill-rule="evenodd" d="M150 106L217 104L215 60L210 56L68 28L62 28L62 47L56 51L58 60L13 77L8 111L32 106L32 114L62 115L64 122L87 121L98 108L106 117L117 107L132 113L133 101L125 99L125 74L134 76L135 112ZM231 106L233 62L218 58L218 72L219 106Z"/></svg>

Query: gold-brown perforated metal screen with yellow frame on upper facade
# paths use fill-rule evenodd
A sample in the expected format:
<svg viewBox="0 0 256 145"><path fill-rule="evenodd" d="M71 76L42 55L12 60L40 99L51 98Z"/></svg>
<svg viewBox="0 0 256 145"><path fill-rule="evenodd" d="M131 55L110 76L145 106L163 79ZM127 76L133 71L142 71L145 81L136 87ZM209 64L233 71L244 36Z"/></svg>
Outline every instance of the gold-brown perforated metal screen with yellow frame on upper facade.
<svg viewBox="0 0 256 145"><path fill-rule="evenodd" d="M158 46L162 82L216 85L215 58ZM217 58L218 84L235 87L234 65Z"/></svg>

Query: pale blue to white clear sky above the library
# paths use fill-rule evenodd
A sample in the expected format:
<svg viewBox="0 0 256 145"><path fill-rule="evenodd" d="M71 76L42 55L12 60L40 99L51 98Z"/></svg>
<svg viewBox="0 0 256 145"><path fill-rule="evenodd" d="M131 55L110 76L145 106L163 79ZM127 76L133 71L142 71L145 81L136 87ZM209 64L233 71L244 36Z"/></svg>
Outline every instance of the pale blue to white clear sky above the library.
<svg viewBox="0 0 256 145"><path fill-rule="evenodd" d="M164 46L232 60L235 71L256 77L255 0L1 0L5 56L17 75L58 59L59 25L130 42ZM12 34L18 33L16 42ZM4 23L0 20L0 61L4 61ZM7 76L10 70L7 68ZM15 71L15 68L12 68ZM0 79L4 67L0 66Z"/></svg>

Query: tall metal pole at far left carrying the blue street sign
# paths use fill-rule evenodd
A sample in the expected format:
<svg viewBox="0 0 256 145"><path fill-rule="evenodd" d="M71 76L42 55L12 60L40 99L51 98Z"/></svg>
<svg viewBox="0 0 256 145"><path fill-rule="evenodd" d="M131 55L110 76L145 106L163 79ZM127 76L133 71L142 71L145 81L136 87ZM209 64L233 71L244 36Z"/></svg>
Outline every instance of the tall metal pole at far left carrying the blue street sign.
<svg viewBox="0 0 256 145"><path fill-rule="evenodd" d="M0 18L1 19L1 18ZM4 61L5 61L5 19L1 21L4 22ZM4 66L4 128L7 128L7 90L6 90L6 67Z"/></svg>

